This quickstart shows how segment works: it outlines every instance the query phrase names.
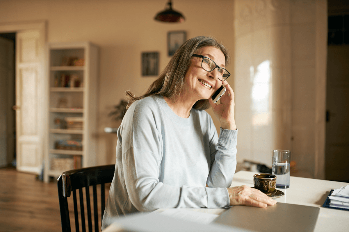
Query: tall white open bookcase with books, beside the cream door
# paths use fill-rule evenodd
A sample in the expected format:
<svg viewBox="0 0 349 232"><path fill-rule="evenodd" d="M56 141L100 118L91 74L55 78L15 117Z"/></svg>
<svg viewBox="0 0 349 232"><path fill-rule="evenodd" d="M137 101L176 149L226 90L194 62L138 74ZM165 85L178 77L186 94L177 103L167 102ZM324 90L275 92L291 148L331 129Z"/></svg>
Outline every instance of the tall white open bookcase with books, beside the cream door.
<svg viewBox="0 0 349 232"><path fill-rule="evenodd" d="M58 177L66 169L52 169L52 162L57 160L73 162L76 157L81 158L81 166L96 165L96 137L97 133L97 79L98 79L98 47L89 42L49 43L49 137L45 148L44 181ZM73 58L75 57L75 58ZM83 59L81 66L67 65L67 59ZM74 64L70 62L70 64ZM58 82L61 76L72 77L80 82ZM70 85L73 86L70 86ZM67 129L64 123L66 117L82 117L82 129ZM81 150L56 149L58 140L81 141ZM66 167L69 167L66 166Z"/></svg>

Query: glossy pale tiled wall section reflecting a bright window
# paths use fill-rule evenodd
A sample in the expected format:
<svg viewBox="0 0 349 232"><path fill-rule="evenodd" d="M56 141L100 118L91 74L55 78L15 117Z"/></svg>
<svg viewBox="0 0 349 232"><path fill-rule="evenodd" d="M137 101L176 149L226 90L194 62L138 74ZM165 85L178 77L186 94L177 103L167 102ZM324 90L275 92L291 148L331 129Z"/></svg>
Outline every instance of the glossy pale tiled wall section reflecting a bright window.
<svg viewBox="0 0 349 232"><path fill-rule="evenodd" d="M285 149L299 176L324 178L326 10L325 0L235 1L239 161L271 166Z"/></svg>

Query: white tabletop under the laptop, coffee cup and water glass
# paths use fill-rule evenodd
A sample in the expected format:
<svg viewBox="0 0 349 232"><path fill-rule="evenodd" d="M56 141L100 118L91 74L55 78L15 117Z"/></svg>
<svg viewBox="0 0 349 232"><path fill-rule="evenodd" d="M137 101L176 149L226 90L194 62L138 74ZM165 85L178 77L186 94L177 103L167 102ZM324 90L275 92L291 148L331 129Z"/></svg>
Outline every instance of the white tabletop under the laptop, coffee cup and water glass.
<svg viewBox="0 0 349 232"><path fill-rule="evenodd" d="M253 175L257 174L251 171L239 171L235 173L231 187L247 185L254 187ZM291 203L297 205L320 207L319 217L315 225L314 232L348 232L349 231L349 211L330 209L322 207L331 189L339 189L348 183L336 181L324 181L319 179L310 179L302 177L290 177L290 187L288 189L279 189L285 195L280 198L274 198L277 202ZM158 209L154 212L161 212L164 209ZM226 209L187 209L202 213L221 215ZM113 225L105 230L118 231Z"/></svg>

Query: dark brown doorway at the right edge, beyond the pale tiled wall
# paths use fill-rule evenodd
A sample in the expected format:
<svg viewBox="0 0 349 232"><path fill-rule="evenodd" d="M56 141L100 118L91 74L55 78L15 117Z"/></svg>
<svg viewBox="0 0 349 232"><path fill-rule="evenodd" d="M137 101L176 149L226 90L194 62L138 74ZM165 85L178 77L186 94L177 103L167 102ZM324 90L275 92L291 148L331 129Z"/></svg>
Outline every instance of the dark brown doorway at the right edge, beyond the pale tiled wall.
<svg viewBox="0 0 349 232"><path fill-rule="evenodd" d="M349 182L349 3L328 1L326 179Z"/></svg>

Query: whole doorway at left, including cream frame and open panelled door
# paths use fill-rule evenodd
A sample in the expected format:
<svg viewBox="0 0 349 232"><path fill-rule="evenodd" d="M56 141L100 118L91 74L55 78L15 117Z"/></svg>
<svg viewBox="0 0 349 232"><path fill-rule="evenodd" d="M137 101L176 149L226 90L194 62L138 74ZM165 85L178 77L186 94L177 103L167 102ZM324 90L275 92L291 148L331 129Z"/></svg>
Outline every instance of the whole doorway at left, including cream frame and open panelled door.
<svg viewBox="0 0 349 232"><path fill-rule="evenodd" d="M13 139L14 151L16 152L16 170L40 174L43 170L43 154L47 150L45 146L47 139L44 136L48 123L46 114L48 112L48 85L45 78L47 60L45 52L46 21L0 23L0 34L12 34L12 37L14 34L16 43L14 62L15 104L8 102L8 94L4 94L5 90L9 90L4 82L6 81L6 85L13 82L8 82L9 78L3 78L0 82L0 106L4 108L4 110L0 109L0 136L2 136L0 137L0 150L6 150L6 155L3 152L0 153L0 161L4 162L0 165L7 166L8 163L12 163L13 152L9 152L12 155L7 156L7 138L11 139L14 136L7 136L5 132L10 127L6 126L7 129L4 129L3 125L7 125L7 123L1 123L1 121L6 122L7 119L12 119L12 117L7 116L5 118L5 114L2 112L5 109L11 110L9 108L13 107L12 113L16 115L14 122L16 125L15 140ZM10 41L9 38L3 37L1 37L1 40ZM2 49L0 54L5 50ZM12 59L14 58L5 58L7 61ZM5 77L7 75L5 74ZM4 103L1 104L2 102ZM9 132L9 134L12 133ZM1 158L3 156L6 156L6 158Z"/></svg>

